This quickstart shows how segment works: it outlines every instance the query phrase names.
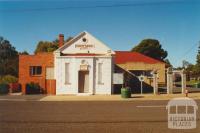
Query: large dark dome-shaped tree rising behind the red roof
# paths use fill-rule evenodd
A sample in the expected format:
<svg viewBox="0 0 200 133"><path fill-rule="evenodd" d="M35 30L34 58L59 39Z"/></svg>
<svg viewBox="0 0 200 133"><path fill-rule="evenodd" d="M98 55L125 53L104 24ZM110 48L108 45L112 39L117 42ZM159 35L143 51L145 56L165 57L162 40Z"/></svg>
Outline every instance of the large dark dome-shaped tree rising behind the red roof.
<svg viewBox="0 0 200 133"><path fill-rule="evenodd" d="M144 39L131 51L142 53L160 61L164 61L168 55L167 51L162 48L162 45L156 39Z"/></svg>

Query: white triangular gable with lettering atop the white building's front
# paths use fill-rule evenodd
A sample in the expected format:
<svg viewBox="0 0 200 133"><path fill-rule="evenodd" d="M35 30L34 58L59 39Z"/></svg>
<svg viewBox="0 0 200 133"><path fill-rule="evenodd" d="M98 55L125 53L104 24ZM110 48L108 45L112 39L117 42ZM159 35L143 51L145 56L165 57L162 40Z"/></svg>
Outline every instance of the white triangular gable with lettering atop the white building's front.
<svg viewBox="0 0 200 133"><path fill-rule="evenodd" d="M82 39L87 41L83 41ZM92 34L87 31L83 31L69 42L66 42L63 46L58 48L55 53L61 52L63 55L75 55L75 54L102 54L102 55L113 55L115 54L111 48L109 48L105 43L98 40Z"/></svg>

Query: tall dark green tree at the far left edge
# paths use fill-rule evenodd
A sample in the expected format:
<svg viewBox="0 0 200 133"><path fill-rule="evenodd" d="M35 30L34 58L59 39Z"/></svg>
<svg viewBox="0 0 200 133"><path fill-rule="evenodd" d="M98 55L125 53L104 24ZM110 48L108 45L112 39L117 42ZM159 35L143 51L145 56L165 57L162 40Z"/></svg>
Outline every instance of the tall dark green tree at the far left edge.
<svg viewBox="0 0 200 133"><path fill-rule="evenodd" d="M18 52L10 42L0 37L0 76L18 75Z"/></svg>

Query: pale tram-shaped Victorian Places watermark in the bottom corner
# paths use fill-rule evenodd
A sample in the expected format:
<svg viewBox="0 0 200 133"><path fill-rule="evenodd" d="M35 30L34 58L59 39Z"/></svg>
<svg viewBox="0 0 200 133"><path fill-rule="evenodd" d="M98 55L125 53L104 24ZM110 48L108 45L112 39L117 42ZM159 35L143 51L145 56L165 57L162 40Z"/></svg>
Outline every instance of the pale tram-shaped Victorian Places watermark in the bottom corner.
<svg viewBox="0 0 200 133"><path fill-rule="evenodd" d="M196 102L187 97L174 98L167 104L168 128L193 129L196 128Z"/></svg>

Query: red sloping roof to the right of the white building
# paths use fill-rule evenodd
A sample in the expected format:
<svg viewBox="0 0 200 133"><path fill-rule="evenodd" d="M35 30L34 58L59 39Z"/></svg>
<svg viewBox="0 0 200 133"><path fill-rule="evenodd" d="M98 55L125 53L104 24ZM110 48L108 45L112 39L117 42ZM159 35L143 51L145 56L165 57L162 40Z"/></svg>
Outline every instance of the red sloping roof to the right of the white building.
<svg viewBox="0 0 200 133"><path fill-rule="evenodd" d="M148 64L164 63L138 52L115 51L115 64L125 64L128 62L143 62Z"/></svg>

